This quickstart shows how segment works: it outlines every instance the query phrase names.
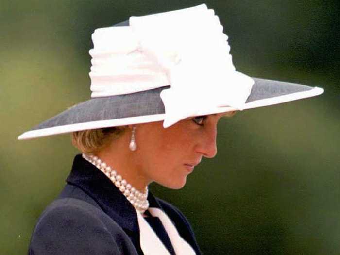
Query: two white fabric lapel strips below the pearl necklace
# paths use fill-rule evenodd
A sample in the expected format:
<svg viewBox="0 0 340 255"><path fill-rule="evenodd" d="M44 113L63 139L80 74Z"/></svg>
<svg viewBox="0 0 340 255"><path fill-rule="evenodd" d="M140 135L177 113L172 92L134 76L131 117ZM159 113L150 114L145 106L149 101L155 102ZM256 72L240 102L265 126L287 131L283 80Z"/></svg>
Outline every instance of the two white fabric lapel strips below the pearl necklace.
<svg viewBox="0 0 340 255"><path fill-rule="evenodd" d="M178 234L178 231L166 213L154 207L151 207L148 210L153 217L158 217L162 222L176 255L196 254L192 247ZM170 255L169 251L153 232L153 229L148 224L148 222L144 220L139 212L136 211L136 213L139 225L140 248L142 249L143 253L146 255Z"/></svg>

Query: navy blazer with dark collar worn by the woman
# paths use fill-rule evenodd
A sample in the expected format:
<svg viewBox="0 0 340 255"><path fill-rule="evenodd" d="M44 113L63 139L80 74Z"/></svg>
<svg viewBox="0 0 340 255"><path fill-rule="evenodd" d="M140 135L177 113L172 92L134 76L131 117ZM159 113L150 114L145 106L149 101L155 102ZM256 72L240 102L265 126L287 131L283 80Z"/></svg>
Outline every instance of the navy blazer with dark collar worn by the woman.
<svg viewBox="0 0 340 255"><path fill-rule="evenodd" d="M151 192L148 200L150 207L169 216L180 236L201 254L184 215ZM105 174L77 155L67 185L34 228L28 254L143 254L136 211Z"/></svg>

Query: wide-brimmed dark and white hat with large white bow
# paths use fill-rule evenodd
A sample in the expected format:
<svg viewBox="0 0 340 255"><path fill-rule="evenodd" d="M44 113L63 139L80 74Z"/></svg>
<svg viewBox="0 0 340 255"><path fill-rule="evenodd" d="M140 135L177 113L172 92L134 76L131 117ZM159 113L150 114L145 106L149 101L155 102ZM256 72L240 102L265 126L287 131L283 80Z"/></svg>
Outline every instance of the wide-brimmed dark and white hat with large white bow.
<svg viewBox="0 0 340 255"><path fill-rule="evenodd" d="M245 110L317 96L319 87L236 71L223 27L205 4L96 29L91 99L18 139Z"/></svg>

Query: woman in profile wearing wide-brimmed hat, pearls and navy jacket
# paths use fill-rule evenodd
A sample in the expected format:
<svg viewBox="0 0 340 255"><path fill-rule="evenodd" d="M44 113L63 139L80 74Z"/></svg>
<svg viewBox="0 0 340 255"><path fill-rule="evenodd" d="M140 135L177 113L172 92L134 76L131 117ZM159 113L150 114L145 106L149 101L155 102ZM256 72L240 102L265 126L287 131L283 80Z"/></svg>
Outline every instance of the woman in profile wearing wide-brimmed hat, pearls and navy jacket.
<svg viewBox="0 0 340 255"><path fill-rule="evenodd" d="M148 185L183 187L202 157L217 153L222 116L323 89L237 72L205 5L131 17L92 40L92 99L19 136L73 132L82 152L37 222L29 253L200 254L185 217Z"/></svg>

